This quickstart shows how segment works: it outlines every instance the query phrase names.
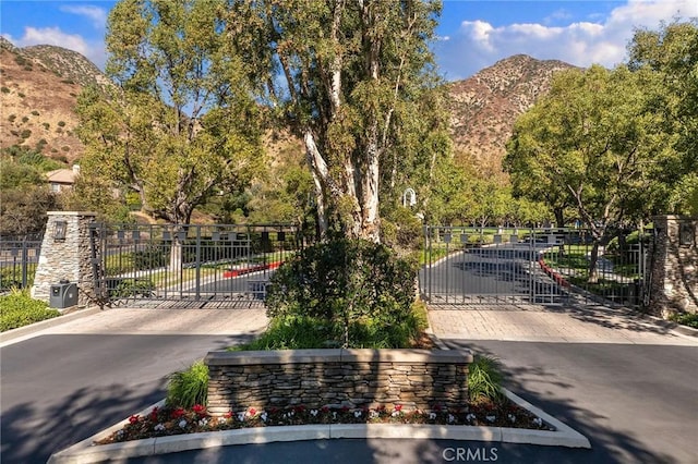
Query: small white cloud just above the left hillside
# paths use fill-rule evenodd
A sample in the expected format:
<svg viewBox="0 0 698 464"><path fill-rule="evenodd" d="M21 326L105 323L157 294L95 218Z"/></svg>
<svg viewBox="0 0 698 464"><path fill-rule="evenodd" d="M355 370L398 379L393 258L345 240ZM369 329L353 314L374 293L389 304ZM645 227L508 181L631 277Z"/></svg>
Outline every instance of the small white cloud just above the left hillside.
<svg viewBox="0 0 698 464"><path fill-rule="evenodd" d="M31 27L24 28L24 35L21 38L4 36L14 44L15 47L28 47L32 45L53 45L76 51L89 61L95 63L99 69L104 70L106 62L105 44L103 41L91 41L79 34L68 34L59 27Z"/></svg>

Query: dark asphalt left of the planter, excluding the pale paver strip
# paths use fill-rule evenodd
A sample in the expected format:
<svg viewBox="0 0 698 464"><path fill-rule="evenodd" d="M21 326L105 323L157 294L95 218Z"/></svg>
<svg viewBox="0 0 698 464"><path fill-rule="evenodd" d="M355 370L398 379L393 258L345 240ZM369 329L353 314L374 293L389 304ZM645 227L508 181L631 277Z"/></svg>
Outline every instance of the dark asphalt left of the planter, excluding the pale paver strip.
<svg viewBox="0 0 698 464"><path fill-rule="evenodd" d="M48 334L2 347L0 460L45 463L161 400L166 376L249 335Z"/></svg>

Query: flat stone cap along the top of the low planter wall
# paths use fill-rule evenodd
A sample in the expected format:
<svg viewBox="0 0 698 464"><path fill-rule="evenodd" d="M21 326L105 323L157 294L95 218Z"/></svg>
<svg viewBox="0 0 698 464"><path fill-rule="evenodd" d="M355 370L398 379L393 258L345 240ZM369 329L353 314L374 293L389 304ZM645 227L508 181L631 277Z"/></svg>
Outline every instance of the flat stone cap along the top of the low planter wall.
<svg viewBox="0 0 698 464"><path fill-rule="evenodd" d="M213 351L204 362L209 366L304 363L472 363L470 350L275 350Z"/></svg>

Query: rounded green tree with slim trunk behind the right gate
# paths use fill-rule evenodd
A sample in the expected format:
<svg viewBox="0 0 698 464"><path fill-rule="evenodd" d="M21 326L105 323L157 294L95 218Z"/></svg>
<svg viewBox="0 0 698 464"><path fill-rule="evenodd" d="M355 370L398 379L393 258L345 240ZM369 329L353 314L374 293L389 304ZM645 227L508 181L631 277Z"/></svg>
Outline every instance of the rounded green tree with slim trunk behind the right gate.
<svg viewBox="0 0 698 464"><path fill-rule="evenodd" d="M665 134L648 112L648 73L594 65L564 71L551 91L519 120L505 166L515 188L531 199L549 190L571 202L593 237L590 280L599 245L614 228L641 219L659 204L655 173L666 156ZM535 188L526 188L531 180Z"/></svg>

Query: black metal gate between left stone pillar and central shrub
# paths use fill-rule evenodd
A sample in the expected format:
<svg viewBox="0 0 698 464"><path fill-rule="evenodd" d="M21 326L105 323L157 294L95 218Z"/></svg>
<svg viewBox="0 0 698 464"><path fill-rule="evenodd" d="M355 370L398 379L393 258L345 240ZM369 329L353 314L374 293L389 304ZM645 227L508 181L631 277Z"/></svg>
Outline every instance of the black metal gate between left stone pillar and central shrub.
<svg viewBox="0 0 698 464"><path fill-rule="evenodd" d="M109 303L263 302L270 276L301 245L296 227L91 228L95 293Z"/></svg>

